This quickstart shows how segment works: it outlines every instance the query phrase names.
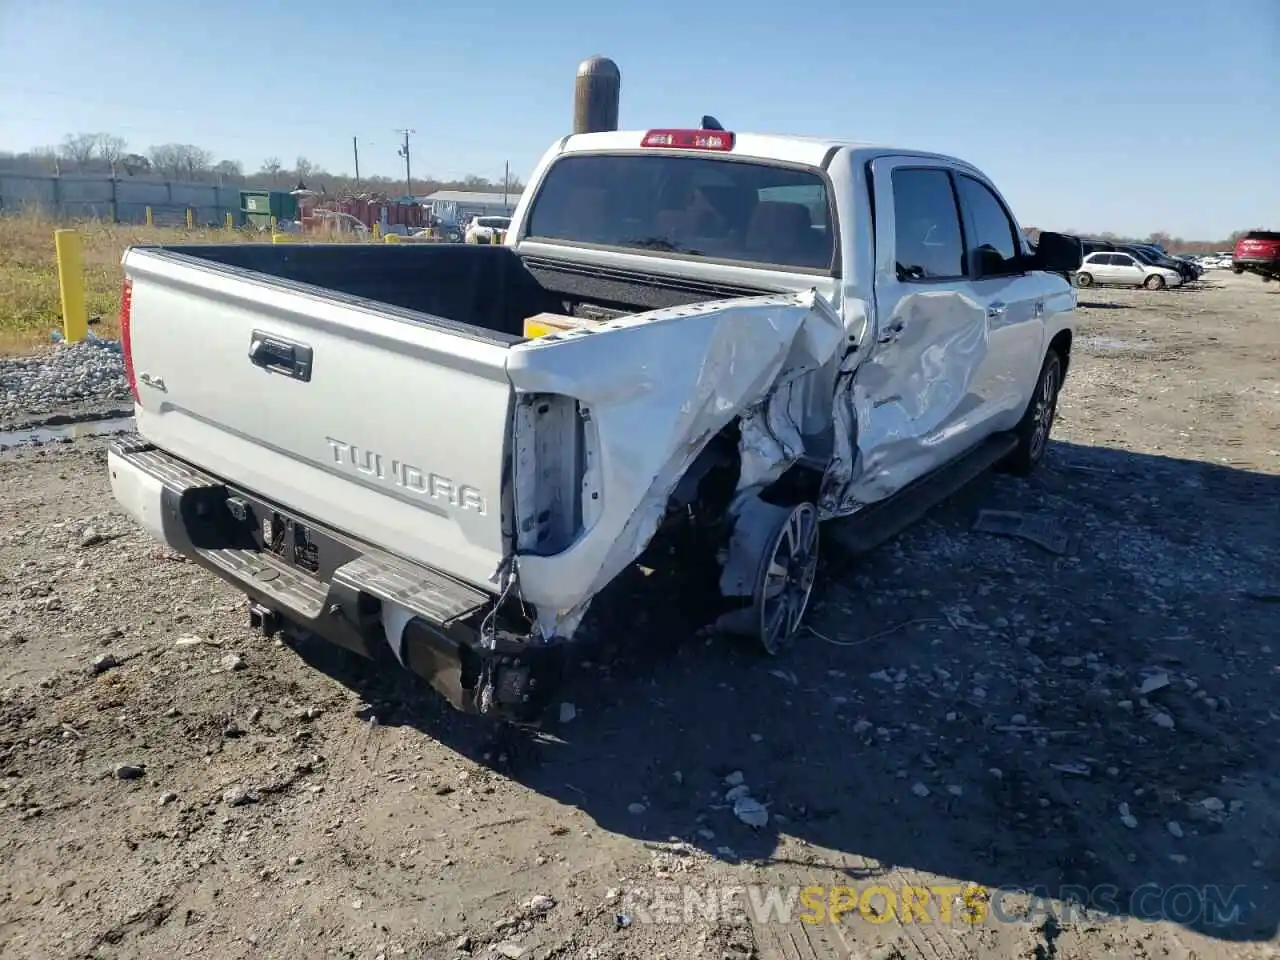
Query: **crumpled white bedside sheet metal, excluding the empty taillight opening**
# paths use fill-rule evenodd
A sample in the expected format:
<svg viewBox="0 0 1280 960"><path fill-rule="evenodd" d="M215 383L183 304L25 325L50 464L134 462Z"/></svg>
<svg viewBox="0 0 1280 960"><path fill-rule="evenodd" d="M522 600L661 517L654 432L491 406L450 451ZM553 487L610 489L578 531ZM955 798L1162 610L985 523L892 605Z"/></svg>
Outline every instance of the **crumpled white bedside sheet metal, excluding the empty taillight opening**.
<svg viewBox="0 0 1280 960"><path fill-rule="evenodd" d="M754 481L774 470L772 456L797 456L790 415L764 401L788 398L786 385L844 342L840 315L809 291L637 314L512 347L507 375L518 393L573 397L594 428L594 522L553 556L516 561L541 635L572 634L591 598L649 544L698 453L744 411L756 408Z"/></svg>

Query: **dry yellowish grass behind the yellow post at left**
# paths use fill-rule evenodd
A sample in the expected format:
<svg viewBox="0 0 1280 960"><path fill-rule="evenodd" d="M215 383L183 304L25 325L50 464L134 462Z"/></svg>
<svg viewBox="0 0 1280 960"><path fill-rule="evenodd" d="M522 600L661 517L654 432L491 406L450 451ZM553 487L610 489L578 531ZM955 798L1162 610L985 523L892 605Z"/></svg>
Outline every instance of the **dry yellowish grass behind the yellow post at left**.
<svg viewBox="0 0 1280 960"><path fill-rule="evenodd" d="M63 325L54 257L54 230L79 230L84 251L84 287L88 315L99 337L119 335L120 257L134 243L246 243L264 236L248 230L146 227L102 220L59 223L40 212L0 216L0 356L32 353L50 343L50 333ZM308 234L308 241L349 241L349 234Z"/></svg>

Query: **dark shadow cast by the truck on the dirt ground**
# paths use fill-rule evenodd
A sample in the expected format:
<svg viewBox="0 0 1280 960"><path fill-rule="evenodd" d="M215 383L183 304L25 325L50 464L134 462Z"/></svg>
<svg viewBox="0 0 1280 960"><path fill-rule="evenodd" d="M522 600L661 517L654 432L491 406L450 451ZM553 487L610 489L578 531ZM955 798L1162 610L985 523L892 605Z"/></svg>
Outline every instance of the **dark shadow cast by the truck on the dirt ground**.
<svg viewBox="0 0 1280 960"><path fill-rule="evenodd" d="M1276 503L1280 476L1057 443L1030 483L980 480L859 564L828 562L815 632L778 659L699 637L660 586L620 586L563 691L576 719L497 746L403 673L303 655L383 723L769 882L955 877L997 891L993 910L1033 891L1260 941L1280 916L1260 641L1277 585L1257 580L1280 567ZM1071 556L973 532L983 507L1056 516ZM1152 668L1171 682L1142 695ZM762 829L724 800L735 771ZM778 855L783 833L804 861Z"/></svg>

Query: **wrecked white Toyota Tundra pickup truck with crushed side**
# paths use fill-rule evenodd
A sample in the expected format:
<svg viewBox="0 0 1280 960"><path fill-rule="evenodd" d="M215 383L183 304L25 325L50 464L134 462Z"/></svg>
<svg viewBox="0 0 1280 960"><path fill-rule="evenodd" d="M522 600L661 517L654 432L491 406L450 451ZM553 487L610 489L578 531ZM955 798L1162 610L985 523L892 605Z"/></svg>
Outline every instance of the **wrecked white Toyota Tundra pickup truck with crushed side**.
<svg viewBox="0 0 1280 960"><path fill-rule="evenodd" d="M947 156L566 137L504 246L128 250L138 433L111 485L264 630L389 648L458 709L524 718L655 538L691 534L718 627L776 654L819 522L869 549L989 466L1030 471L1079 264ZM547 312L577 329L524 335Z"/></svg>

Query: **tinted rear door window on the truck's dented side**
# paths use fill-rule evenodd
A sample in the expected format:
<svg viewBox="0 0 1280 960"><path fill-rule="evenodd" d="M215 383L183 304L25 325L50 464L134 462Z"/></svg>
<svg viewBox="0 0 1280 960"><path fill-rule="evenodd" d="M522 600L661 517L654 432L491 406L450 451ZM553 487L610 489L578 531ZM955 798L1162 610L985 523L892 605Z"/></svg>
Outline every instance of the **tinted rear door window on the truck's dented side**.
<svg viewBox="0 0 1280 960"><path fill-rule="evenodd" d="M893 234L900 280L968 275L960 211L946 170L893 172Z"/></svg>

